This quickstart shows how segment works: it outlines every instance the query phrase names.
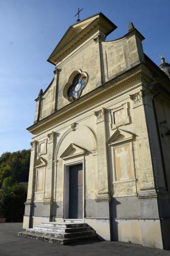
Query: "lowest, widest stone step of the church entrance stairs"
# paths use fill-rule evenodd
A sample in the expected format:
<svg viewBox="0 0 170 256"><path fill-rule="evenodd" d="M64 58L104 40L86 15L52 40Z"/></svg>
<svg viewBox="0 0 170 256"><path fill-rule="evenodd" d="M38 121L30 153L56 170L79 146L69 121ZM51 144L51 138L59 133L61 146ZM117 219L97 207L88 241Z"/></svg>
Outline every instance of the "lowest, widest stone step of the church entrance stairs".
<svg viewBox="0 0 170 256"><path fill-rule="evenodd" d="M53 236L44 236L40 234L33 234L33 233L27 233L27 232L19 232L18 236L24 236L28 238L33 238L33 239L40 239L43 241L47 241L49 243L59 243L59 244L70 244L70 243L75 243L79 241L84 241L86 239L96 239L96 234L92 235L83 235L83 236L75 236L71 238L63 238L63 237L53 237Z"/></svg>

